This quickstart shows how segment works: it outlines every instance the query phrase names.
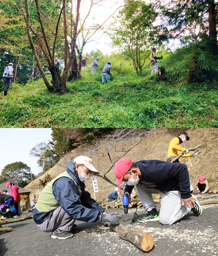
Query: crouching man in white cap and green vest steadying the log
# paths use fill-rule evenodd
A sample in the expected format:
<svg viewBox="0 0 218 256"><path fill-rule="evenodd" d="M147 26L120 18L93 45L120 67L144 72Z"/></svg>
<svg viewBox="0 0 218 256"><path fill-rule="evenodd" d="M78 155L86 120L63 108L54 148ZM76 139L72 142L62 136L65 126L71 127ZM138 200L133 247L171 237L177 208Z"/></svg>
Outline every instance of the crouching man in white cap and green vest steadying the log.
<svg viewBox="0 0 218 256"><path fill-rule="evenodd" d="M74 164L67 162L67 170L46 185L33 214L40 230L52 232L52 238L66 239L73 237L71 229L76 227L75 220L119 224L119 218L106 214L85 191L84 182L91 173L99 173L92 159L79 156L74 159Z"/></svg>

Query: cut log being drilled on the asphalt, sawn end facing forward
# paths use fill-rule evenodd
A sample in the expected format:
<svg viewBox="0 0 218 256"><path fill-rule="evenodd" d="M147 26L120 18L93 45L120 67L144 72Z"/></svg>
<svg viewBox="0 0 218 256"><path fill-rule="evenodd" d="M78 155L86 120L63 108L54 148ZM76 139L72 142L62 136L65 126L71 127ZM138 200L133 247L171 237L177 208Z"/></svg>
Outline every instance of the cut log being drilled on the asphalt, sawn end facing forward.
<svg viewBox="0 0 218 256"><path fill-rule="evenodd" d="M108 226L117 232L119 237L124 240L131 242L133 245L137 246L139 249L148 252L154 246L154 239L151 235L146 234L139 228L127 229L124 225L113 225L108 223Z"/></svg>

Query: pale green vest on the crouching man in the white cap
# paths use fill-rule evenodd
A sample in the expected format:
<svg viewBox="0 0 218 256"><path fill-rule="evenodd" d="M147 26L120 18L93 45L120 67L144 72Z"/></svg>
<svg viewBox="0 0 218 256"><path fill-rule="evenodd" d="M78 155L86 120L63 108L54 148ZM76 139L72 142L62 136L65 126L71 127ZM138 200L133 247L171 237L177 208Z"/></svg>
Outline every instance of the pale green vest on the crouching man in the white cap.
<svg viewBox="0 0 218 256"><path fill-rule="evenodd" d="M53 183L61 177L70 178L78 186L78 184L67 173L67 171L61 173L56 178L54 178L54 180L50 181L49 184L46 185L46 187L43 189L42 193L40 194L38 202L36 204L36 209L39 212L51 212L60 206L60 204L58 203L58 201L55 199L53 195L52 186L53 186ZM79 190L79 197L80 197L82 195L82 191L79 186L78 186L78 190Z"/></svg>

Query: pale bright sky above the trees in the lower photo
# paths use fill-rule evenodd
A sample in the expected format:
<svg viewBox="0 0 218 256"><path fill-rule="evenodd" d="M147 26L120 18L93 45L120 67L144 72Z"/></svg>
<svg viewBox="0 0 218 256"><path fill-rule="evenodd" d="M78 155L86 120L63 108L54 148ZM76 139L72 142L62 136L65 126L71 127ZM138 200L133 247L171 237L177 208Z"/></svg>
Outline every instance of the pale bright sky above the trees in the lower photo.
<svg viewBox="0 0 218 256"><path fill-rule="evenodd" d="M27 164L35 175L42 171L30 151L38 143L48 143L51 133L50 128L0 128L0 172L5 165L19 161Z"/></svg>

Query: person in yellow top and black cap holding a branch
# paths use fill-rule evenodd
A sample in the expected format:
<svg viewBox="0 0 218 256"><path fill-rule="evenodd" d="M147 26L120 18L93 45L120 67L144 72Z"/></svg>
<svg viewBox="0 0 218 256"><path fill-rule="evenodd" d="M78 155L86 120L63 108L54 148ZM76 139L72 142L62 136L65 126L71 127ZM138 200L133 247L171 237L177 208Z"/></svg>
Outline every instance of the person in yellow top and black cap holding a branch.
<svg viewBox="0 0 218 256"><path fill-rule="evenodd" d="M189 140L189 136L187 132L181 132L175 138L170 141L170 145L168 148L168 155L167 155L167 162L170 162L172 159L183 153L181 157L195 157L201 153L198 149L193 153L188 153L188 150L185 148L180 147L179 145L184 142L185 140ZM177 159L174 163L179 163Z"/></svg>

